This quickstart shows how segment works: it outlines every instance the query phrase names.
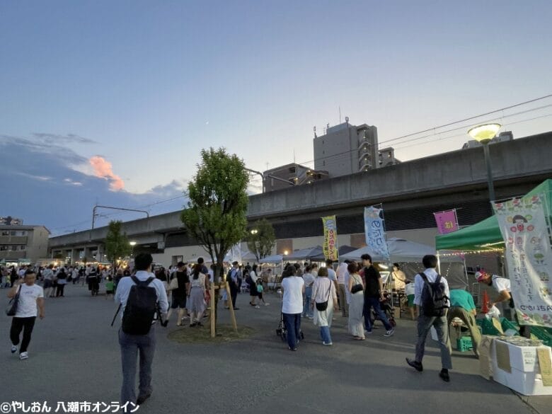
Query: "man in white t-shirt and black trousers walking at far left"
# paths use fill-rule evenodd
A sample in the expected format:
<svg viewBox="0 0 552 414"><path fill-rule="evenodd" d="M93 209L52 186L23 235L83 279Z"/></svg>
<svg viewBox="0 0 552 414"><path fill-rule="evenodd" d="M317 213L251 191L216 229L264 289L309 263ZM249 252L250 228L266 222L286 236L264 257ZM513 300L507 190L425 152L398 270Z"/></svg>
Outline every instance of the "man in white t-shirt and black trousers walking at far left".
<svg viewBox="0 0 552 414"><path fill-rule="evenodd" d="M8 298L15 297L19 292L16 315L11 319L10 340L11 353L15 354L19 344L19 335L23 330L23 340L19 347L20 360L26 360L29 357L27 347L30 343L30 335L33 333L37 313L40 319L44 318L44 291L42 287L35 284L35 280L35 271L28 269L25 271L24 282L18 280L8 292Z"/></svg>

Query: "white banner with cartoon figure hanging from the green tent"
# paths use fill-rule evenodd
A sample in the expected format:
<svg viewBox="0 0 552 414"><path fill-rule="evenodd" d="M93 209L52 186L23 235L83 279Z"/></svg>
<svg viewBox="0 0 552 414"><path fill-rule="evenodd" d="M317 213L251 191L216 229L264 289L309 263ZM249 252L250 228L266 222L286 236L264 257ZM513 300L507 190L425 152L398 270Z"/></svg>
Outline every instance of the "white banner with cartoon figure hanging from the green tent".
<svg viewBox="0 0 552 414"><path fill-rule="evenodd" d="M494 202L521 325L552 326L552 250L539 195Z"/></svg>

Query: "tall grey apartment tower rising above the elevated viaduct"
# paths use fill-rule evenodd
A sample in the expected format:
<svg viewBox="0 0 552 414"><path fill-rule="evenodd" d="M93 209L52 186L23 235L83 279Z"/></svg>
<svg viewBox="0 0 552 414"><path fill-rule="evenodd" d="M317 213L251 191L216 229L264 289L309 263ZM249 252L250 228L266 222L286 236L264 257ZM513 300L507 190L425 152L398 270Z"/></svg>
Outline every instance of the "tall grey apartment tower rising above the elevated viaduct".
<svg viewBox="0 0 552 414"><path fill-rule="evenodd" d="M379 167L378 131L370 125L351 125L349 118L325 134L314 137L314 169L328 171L330 178Z"/></svg>

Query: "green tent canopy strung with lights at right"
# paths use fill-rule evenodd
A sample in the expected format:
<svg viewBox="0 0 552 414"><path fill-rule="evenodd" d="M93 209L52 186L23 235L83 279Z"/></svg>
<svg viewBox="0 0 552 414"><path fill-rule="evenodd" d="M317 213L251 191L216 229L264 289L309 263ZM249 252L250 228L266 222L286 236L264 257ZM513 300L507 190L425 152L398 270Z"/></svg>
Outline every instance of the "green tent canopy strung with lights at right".
<svg viewBox="0 0 552 414"><path fill-rule="evenodd" d="M548 217L552 220L552 180L545 180L529 191L525 196L544 194ZM502 234L498 226L498 220L495 216L488 217L481 222L465 227L464 229L454 231L449 234L441 234L435 237L435 247L437 250L484 250L484 245L502 243ZM501 246L490 246L499 247Z"/></svg>

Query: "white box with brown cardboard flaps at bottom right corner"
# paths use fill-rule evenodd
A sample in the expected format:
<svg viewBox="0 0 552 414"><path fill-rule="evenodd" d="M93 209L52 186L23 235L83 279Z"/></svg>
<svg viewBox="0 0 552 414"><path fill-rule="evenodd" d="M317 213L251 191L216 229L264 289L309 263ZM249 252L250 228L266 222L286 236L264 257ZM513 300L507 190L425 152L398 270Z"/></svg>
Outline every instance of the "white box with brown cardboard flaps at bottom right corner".
<svg viewBox="0 0 552 414"><path fill-rule="evenodd" d="M552 358L551 347L517 346L495 339L491 349L490 360L496 382L524 396L552 395L552 386L543 384L537 356L539 349L548 352Z"/></svg>

